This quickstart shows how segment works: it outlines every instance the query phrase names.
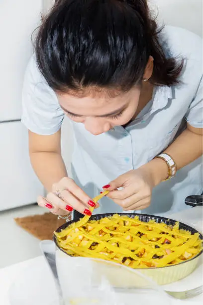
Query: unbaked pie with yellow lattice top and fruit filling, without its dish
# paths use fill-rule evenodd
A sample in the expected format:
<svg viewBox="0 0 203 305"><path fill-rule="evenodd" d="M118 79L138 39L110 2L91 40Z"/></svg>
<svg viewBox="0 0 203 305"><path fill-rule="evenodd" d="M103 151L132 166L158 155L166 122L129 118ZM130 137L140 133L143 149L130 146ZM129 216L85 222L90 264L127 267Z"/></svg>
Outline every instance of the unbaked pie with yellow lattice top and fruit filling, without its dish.
<svg viewBox="0 0 203 305"><path fill-rule="evenodd" d="M172 226L118 214L100 220L84 218L55 232L58 246L70 256L139 269L179 264L202 251L200 234L180 229L179 222Z"/></svg>

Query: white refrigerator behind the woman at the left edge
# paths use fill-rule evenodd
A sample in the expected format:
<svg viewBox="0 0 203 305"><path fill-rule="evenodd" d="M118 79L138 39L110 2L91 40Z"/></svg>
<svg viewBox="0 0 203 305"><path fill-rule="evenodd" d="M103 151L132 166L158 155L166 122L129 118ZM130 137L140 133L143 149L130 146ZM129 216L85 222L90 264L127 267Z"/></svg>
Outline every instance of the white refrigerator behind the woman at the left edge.
<svg viewBox="0 0 203 305"><path fill-rule="evenodd" d="M20 122L24 72L33 51L30 36L41 10L41 0L0 1L0 211L34 203L44 193Z"/></svg>

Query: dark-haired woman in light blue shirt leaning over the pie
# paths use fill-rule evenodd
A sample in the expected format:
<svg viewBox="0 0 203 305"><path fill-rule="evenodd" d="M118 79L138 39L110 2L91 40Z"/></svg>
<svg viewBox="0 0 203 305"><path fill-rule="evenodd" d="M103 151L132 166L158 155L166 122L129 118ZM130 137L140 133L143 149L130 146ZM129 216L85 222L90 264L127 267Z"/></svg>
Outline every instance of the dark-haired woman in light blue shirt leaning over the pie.
<svg viewBox="0 0 203 305"><path fill-rule="evenodd" d="M57 1L23 90L30 159L48 191L38 204L91 215L105 184L96 213L161 214L201 194L201 46L184 29L158 30L147 0ZM64 115L74 133L73 179L61 156Z"/></svg>

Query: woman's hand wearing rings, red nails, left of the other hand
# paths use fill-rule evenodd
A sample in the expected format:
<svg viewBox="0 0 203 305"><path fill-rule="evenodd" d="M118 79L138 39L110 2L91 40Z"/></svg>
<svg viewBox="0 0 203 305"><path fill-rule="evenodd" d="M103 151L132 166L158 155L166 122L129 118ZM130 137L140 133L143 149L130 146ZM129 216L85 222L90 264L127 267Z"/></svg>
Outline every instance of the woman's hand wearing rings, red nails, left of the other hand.
<svg viewBox="0 0 203 305"><path fill-rule="evenodd" d="M52 192L49 192L46 198L39 196L37 203L60 216L67 215L73 210L91 216L89 207L99 206L69 177L64 177L58 183L54 183Z"/></svg>

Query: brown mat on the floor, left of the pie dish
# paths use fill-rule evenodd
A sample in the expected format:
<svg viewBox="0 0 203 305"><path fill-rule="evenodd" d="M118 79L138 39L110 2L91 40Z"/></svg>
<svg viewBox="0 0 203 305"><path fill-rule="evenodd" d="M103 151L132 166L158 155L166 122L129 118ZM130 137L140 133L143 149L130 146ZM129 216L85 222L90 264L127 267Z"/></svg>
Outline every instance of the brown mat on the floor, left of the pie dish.
<svg viewBox="0 0 203 305"><path fill-rule="evenodd" d="M14 220L20 227L40 240L52 240L53 232L65 223L64 219L58 219L58 216L52 213L14 218Z"/></svg>

